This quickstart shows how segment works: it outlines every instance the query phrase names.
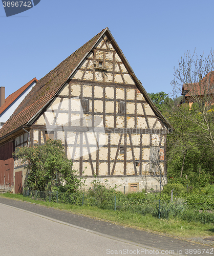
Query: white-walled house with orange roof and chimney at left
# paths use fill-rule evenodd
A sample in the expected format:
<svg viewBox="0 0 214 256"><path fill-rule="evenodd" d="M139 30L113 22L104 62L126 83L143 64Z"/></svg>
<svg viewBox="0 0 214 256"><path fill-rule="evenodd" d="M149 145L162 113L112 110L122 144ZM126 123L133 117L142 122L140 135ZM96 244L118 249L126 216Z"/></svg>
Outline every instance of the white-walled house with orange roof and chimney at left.
<svg viewBox="0 0 214 256"><path fill-rule="evenodd" d="M6 99L5 87L0 87L0 128L2 128L3 124L13 114L17 106L24 100L37 81L36 78L33 78L25 86L10 94Z"/></svg>

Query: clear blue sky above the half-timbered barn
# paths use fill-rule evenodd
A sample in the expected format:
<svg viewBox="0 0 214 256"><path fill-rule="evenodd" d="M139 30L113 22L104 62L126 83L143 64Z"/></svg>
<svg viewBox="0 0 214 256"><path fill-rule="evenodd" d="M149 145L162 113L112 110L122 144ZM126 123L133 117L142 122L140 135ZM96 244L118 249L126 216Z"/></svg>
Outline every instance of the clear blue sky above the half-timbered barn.
<svg viewBox="0 0 214 256"><path fill-rule="evenodd" d="M0 3L0 87L7 97L39 80L108 27L145 90L172 93L184 52L213 47L213 9L213 0L41 0L6 17Z"/></svg>

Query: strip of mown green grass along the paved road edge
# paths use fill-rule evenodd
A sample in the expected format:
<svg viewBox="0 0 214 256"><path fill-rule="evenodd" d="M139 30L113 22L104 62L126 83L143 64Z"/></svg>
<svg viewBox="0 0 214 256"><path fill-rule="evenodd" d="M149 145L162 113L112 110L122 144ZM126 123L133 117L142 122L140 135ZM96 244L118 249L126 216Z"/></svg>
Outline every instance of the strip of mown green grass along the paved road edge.
<svg viewBox="0 0 214 256"><path fill-rule="evenodd" d="M39 200L32 200L23 195L10 193L0 194L1 197L27 201L39 205L54 207L56 209L70 211L73 214L84 215L104 221L109 221L119 225L133 227L136 229L164 233L168 236L190 238L190 237L208 237L214 236L213 224L202 224L200 222L188 222L178 219L157 219L151 215L141 215L130 211L114 211L101 209L95 206L77 206L63 203L49 203Z"/></svg>

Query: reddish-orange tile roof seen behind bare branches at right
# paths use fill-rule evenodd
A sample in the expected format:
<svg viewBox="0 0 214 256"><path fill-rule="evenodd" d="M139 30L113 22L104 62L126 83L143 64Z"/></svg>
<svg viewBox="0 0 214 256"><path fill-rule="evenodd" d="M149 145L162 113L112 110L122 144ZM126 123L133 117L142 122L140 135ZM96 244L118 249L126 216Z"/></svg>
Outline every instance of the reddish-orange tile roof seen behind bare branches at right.
<svg viewBox="0 0 214 256"><path fill-rule="evenodd" d="M186 91L186 93L184 92ZM214 71L209 72L200 82L183 84L182 95L207 95L214 93Z"/></svg>

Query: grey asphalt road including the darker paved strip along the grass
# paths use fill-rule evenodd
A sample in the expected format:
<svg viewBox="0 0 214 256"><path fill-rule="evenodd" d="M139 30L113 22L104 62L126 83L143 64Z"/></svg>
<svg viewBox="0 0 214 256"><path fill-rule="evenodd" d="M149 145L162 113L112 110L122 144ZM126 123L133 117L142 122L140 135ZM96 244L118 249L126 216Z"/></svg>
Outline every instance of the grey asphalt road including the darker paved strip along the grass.
<svg viewBox="0 0 214 256"><path fill-rule="evenodd" d="M0 230L0 256L214 254L213 246L3 197Z"/></svg>

